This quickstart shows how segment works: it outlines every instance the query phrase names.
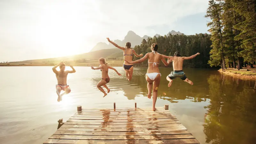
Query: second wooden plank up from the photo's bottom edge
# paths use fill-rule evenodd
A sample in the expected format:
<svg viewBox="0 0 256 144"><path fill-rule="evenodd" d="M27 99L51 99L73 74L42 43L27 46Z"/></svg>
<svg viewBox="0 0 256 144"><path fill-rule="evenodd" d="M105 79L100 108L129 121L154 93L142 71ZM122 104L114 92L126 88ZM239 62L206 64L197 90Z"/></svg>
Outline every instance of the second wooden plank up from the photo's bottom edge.
<svg viewBox="0 0 256 144"><path fill-rule="evenodd" d="M192 134L168 134L168 135L134 135L134 136L98 136L98 135L55 135L49 139L68 140L159 140L159 139L191 139Z"/></svg>

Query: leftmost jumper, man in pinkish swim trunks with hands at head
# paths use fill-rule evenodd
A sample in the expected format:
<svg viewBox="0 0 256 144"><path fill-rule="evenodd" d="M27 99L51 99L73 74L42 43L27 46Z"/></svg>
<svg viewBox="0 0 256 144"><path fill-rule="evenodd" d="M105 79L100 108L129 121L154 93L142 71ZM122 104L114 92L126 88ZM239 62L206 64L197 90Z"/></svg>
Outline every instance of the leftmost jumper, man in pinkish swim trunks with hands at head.
<svg viewBox="0 0 256 144"><path fill-rule="evenodd" d="M56 68L60 66L60 71L57 71ZM60 102L62 100L62 96L65 94L68 94L71 92L71 89L69 85L67 85L67 76L68 73L75 73L76 70L73 68L73 66L69 65L72 68L72 71L66 70L65 71L65 64L63 62L60 62L56 66L52 68L52 71L55 73L58 84L56 85L56 92L58 94L58 99L57 101ZM65 91L62 94L60 94L60 91Z"/></svg>

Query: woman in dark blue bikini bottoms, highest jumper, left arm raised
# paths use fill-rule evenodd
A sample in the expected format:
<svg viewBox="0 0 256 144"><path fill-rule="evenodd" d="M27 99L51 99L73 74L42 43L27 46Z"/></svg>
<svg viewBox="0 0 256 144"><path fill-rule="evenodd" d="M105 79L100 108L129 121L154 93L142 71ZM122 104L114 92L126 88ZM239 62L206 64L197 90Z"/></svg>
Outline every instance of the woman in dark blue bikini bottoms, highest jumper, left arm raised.
<svg viewBox="0 0 256 144"><path fill-rule="evenodd" d="M131 43L130 42L127 42L125 44L125 47L121 47L119 45L117 45L116 43L112 42L108 39L108 42L113 44L114 46L116 46L117 48L123 50L124 52L124 60L127 60L127 61L132 61L132 53L134 53L134 55L136 57L142 57L143 54L141 53L140 55L138 55L132 48L131 48ZM125 76L126 76L126 79L131 81L132 80L132 73L133 73L133 64L129 64L127 63L126 61L124 61L124 70L125 70Z"/></svg>

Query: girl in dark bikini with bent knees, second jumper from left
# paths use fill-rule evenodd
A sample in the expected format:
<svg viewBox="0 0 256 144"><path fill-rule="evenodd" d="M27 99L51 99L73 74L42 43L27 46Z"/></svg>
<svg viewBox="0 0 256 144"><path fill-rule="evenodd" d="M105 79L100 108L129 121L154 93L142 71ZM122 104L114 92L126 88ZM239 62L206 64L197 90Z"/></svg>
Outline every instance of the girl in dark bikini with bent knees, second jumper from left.
<svg viewBox="0 0 256 144"><path fill-rule="evenodd" d="M115 68L108 66L108 63L106 63L106 61L105 61L104 58L100 58L100 59L99 59L99 62L100 62L100 66L99 66L99 67L93 68L93 67L91 66L91 68L94 69L94 70L95 70L95 69L100 69L100 71L101 71L101 76L102 76L102 78L101 78L100 82L97 84L97 88L98 88L101 92L104 93L104 96L103 96L103 97L105 97L105 96L107 95L107 93L103 90L103 88L102 88L101 86L104 86L104 87L108 90L108 93L110 92L110 89L109 89L108 86L106 85L106 84L108 84L108 82L109 82L108 69L113 69L113 70L115 70L116 73L117 73L117 75L119 75L119 76L122 76L122 75L119 74L118 71L117 71Z"/></svg>

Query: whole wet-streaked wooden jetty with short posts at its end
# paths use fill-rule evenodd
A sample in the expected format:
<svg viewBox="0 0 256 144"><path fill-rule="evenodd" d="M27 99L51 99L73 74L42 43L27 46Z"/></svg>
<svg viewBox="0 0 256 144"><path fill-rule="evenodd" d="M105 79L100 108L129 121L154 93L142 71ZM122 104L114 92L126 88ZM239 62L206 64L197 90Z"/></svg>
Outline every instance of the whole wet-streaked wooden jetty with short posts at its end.
<svg viewBox="0 0 256 144"><path fill-rule="evenodd" d="M44 144L199 144L173 116L169 106L157 108L82 109Z"/></svg>

